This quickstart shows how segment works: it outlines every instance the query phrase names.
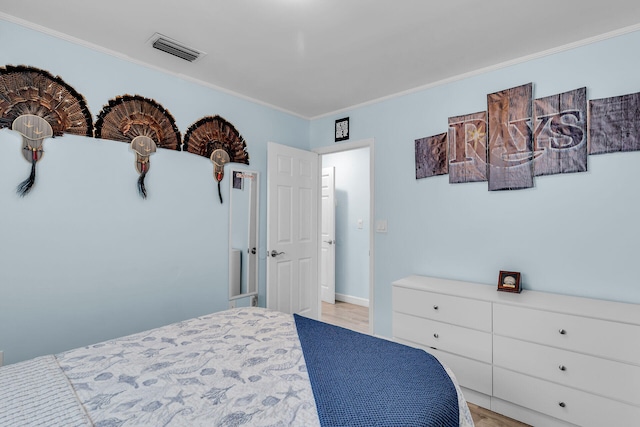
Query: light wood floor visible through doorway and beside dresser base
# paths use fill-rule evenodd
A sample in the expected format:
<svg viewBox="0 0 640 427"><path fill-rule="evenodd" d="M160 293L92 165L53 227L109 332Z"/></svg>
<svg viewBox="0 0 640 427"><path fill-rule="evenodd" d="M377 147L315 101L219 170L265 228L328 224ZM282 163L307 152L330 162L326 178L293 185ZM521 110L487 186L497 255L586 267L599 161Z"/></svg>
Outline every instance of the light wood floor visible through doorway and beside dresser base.
<svg viewBox="0 0 640 427"><path fill-rule="evenodd" d="M336 301L335 304L322 303L323 322L364 334L369 333L369 309L359 305ZM523 424L488 409L469 403L471 416L476 427L524 427Z"/></svg>

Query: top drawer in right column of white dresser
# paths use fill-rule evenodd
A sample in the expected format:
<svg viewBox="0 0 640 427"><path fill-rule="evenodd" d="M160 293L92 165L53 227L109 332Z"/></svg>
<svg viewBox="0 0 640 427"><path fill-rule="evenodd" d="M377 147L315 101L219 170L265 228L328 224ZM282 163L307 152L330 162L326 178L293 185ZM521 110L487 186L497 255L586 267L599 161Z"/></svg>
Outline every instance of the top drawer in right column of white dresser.
<svg viewBox="0 0 640 427"><path fill-rule="evenodd" d="M640 363L640 326L494 304L493 331L622 362Z"/></svg>

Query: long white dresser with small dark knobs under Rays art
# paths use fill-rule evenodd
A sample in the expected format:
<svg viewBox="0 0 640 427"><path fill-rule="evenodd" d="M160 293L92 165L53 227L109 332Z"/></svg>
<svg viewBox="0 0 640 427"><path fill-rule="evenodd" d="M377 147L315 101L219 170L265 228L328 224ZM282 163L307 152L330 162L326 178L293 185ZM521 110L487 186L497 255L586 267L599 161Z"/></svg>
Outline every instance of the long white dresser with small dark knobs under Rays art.
<svg viewBox="0 0 640 427"><path fill-rule="evenodd" d="M528 424L640 426L640 305L411 276L393 336L451 367L469 402Z"/></svg>

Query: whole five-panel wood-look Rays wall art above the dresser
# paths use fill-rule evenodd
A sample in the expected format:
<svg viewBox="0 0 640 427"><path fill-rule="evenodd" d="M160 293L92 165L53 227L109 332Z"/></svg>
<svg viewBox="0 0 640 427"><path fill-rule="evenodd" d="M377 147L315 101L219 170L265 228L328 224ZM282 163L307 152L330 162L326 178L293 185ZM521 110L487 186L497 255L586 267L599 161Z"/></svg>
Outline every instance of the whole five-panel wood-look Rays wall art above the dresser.
<svg viewBox="0 0 640 427"><path fill-rule="evenodd" d="M491 93L487 111L448 122L446 134L415 140L416 179L447 173L446 152L451 184L530 188L536 176L585 172L589 154L640 150L640 93L591 100L587 110L585 87L533 99L529 83Z"/></svg>

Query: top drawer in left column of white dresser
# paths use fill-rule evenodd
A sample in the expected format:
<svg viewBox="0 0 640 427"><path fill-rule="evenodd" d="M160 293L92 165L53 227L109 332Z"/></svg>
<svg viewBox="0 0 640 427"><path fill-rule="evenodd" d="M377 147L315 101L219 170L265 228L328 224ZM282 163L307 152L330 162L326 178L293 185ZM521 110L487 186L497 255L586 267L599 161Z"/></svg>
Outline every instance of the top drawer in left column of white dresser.
<svg viewBox="0 0 640 427"><path fill-rule="evenodd" d="M393 310L467 328L491 331L491 303L393 287Z"/></svg>

